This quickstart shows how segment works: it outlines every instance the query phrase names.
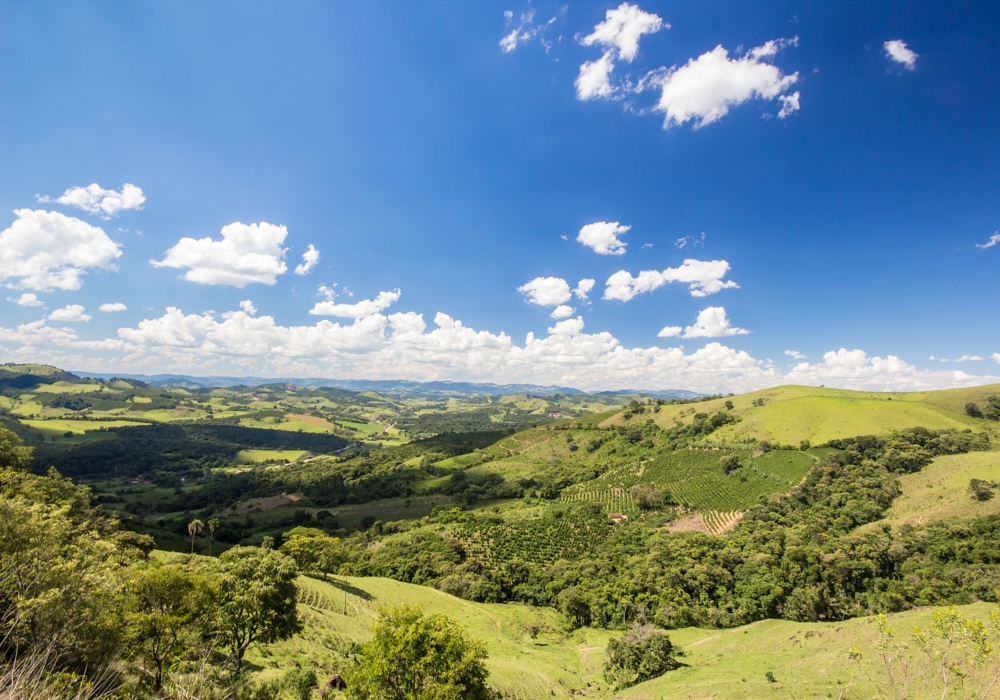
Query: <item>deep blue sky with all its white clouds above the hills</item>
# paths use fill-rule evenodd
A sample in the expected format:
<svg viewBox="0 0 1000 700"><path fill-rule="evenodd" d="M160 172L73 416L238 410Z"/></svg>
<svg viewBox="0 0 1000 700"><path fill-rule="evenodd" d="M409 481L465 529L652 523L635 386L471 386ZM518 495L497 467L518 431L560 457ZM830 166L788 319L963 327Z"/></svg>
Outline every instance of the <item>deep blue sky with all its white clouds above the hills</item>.
<svg viewBox="0 0 1000 700"><path fill-rule="evenodd" d="M1000 381L995 4L0 13L4 361Z"/></svg>

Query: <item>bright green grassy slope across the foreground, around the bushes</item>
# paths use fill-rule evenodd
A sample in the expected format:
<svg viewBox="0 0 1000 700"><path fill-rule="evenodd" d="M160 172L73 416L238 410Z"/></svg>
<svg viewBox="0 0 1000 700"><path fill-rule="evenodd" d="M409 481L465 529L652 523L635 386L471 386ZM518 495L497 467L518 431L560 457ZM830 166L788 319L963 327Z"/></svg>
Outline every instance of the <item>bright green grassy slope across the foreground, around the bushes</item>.
<svg viewBox="0 0 1000 700"><path fill-rule="evenodd" d="M303 633L263 649L252 648L247 656L250 668L263 676L277 676L294 661L316 668L323 682L344 669L351 643L371 638L378 607L407 603L422 606L426 613L443 613L483 640L490 657L490 683L509 697L838 698L847 687L862 697L871 694L870 688L857 683L847 650L859 647L872 654L872 618L830 623L765 620L731 630L673 630L670 637L684 649L685 666L616 692L604 681L602 664L608 639L621 632L584 629L569 633L553 610L471 603L432 588L382 578L336 577L329 582L300 578L299 585ZM959 610L967 617L985 619L996 606L977 603ZM914 626L926 628L932 616L933 609L908 611L891 615L890 625L897 638L906 641ZM530 625L541 630L535 642L526 634ZM777 683L765 679L767 671ZM853 696L845 693L843 697Z"/></svg>

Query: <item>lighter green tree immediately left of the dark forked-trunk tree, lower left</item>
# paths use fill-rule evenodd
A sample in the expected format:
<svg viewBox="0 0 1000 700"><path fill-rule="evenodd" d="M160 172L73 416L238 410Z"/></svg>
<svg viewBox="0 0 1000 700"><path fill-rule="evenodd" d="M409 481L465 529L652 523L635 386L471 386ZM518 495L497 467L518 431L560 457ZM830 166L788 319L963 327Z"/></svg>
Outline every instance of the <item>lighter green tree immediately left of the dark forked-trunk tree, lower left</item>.
<svg viewBox="0 0 1000 700"><path fill-rule="evenodd" d="M164 666L189 648L209 608L212 585L180 564L150 566L136 573L128 594L133 653L148 662L153 689L159 691Z"/></svg>

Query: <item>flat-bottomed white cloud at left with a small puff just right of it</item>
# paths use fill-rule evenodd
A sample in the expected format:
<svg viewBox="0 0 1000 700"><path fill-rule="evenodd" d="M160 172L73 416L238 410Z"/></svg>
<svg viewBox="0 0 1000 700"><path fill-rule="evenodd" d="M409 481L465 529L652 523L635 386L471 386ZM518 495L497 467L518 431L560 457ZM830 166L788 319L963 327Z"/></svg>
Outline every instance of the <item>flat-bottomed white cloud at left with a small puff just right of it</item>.
<svg viewBox="0 0 1000 700"><path fill-rule="evenodd" d="M281 247L287 235L287 228L266 221L249 226L235 222L222 227L222 240L182 238L163 260L150 263L154 267L186 267L184 279L199 284L241 289L248 284L272 285L288 269L286 249Z"/></svg>

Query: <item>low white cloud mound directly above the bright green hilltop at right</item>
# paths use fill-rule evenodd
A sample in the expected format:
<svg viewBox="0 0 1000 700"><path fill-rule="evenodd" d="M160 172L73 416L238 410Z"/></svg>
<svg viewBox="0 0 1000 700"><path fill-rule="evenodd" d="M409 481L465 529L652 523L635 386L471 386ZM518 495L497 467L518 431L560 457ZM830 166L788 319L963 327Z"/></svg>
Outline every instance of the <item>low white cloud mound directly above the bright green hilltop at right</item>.
<svg viewBox="0 0 1000 700"><path fill-rule="evenodd" d="M918 370L895 355L869 357L863 350L841 348L823 355L823 362L796 365L785 375L793 384L825 384L843 389L917 391L976 386L998 381L961 371Z"/></svg>

